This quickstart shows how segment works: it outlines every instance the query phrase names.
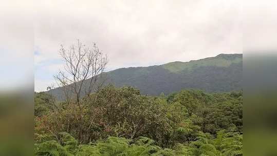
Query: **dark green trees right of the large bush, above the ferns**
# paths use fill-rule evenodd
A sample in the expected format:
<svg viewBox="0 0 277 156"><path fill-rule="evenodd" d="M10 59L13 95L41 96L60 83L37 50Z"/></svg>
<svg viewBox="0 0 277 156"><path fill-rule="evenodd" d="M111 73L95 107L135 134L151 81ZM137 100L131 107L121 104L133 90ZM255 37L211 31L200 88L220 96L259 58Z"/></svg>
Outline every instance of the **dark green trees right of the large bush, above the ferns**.
<svg viewBox="0 0 277 156"><path fill-rule="evenodd" d="M179 109L185 107L187 115L183 118L189 118L204 132L216 134L222 129L242 131L242 91L208 94L197 90L183 90L170 94L167 101L171 105L179 105Z"/></svg>

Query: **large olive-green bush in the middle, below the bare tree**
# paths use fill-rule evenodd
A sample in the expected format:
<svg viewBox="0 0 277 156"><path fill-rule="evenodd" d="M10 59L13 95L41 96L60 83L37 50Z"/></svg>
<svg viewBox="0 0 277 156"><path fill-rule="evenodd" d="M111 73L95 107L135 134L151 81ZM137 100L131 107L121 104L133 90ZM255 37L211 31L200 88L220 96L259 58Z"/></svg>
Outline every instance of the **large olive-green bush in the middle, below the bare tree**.
<svg viewBox="0 0 277 156"><path fill-rule="evenodd" d="M164 144L174 131L165 99L141 95L132 87L104 87L76 104L61 104L43 118L40 131L66 131L82 143L112 136L134 139L147 136ZM38 126L39 127L39 126Z"/></svg>

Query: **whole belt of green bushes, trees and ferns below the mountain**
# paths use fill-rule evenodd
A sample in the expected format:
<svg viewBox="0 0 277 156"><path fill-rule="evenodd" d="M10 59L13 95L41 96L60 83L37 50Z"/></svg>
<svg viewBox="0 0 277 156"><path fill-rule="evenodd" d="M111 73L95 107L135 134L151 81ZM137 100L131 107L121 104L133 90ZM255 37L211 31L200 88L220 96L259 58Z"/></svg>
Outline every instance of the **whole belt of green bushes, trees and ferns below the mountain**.
<svg viewBox="0 0 277 156"><path fill-rule="evenodd" d="M34 96L35 155L243 155L242 91L150 96L109 85L78 103Z"/></svg>

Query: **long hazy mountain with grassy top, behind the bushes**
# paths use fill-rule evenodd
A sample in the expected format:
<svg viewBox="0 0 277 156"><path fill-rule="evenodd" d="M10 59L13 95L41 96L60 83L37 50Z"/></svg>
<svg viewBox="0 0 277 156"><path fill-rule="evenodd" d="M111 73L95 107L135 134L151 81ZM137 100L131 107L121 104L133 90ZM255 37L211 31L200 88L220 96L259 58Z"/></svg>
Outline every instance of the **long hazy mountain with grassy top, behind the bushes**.
<svg viewBox="0 0 277 156"><path fill-rule="evenodd" d="M183 89L227 92L242 89L243 54L219 54L190 62L159 66L120 68L105 72L105 85L134 86L142 94L169 94ZM87 80L87 82L90 79ZM61 88L48 93L61 100Z"/></svg>

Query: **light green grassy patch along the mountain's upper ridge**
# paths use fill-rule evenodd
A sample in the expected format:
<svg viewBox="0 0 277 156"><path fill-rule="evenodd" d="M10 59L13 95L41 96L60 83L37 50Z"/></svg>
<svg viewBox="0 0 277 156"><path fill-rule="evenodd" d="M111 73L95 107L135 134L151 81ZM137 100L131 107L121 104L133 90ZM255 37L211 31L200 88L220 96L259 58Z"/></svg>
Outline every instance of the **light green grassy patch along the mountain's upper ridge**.
<svg viewBox="0 0 277 156"><path fill-rule="evenodd" d="M162 66L173 73L192 71L193 69L202 66L229 67L232 63L242 62L242 56L242 54L219 54L215 57L209 57L206 59L193 60L190 62L171 62Z"/></svg>

